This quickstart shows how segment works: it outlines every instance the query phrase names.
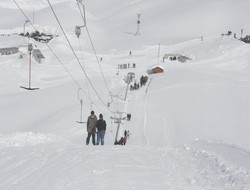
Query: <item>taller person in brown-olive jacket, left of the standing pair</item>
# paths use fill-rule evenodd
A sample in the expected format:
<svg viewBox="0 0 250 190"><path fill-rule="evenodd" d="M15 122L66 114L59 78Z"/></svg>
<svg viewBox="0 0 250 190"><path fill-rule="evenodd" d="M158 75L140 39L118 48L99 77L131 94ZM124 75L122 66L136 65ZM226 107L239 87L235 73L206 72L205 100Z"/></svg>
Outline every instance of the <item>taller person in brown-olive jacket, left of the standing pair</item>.
<svg viewBox="0 0 250 190"><path fill-rule="evenodd" d="M92 143L93 145L95 145L96 123L97 123L97 118L96 118L95 112L91 111L91 115L88 117L88 121L87 121L88 136L86 139L86 145L89 144L89 140L91 136L92 136Z"/></svg>

